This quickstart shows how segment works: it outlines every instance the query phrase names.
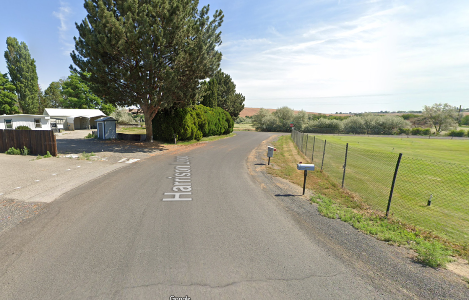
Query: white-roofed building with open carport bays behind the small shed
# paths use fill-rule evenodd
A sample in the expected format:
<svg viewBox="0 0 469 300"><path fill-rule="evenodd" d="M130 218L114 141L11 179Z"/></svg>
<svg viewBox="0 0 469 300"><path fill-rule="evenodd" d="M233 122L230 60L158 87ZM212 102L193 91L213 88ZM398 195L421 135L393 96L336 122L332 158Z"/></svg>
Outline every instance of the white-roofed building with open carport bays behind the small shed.
<svg viewBox="0 0 469 300"><path fill-rule="evenodd" d="M95 120L106 117L99 109L46 108L44 116L49 116L58 129L95 129Z"/></svg>

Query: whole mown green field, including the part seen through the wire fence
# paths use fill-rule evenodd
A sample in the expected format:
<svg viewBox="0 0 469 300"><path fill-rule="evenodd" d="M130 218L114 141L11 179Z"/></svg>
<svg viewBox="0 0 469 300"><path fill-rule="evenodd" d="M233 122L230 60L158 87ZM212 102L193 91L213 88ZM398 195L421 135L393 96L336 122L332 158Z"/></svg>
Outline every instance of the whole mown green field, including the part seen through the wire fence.
<svg viewBox="0 0 469 300"><path fill-rule="evenodd" d="M389 137L296 137L306 157L341 184L345 144L349 143L344 187L371 208L384 212L398 154L403 153L390 214L448 240L469 242L469 140ZM394 148L394 150L393 150ZM427 206L430 199L431 205Z"/></svg>

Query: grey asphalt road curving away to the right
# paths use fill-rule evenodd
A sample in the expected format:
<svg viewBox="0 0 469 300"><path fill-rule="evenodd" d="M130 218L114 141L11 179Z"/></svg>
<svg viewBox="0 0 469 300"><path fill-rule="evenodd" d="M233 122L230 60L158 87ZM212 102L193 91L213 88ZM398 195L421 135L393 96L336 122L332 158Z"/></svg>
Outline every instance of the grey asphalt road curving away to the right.
<svg viewBox="0 0 469 300"><path fill-rule="evenodd" d="M393 299L249 175L270 136L239 132L66 193L0 235L0 299ZM175 186L192 200L163 201Z"/></svg>

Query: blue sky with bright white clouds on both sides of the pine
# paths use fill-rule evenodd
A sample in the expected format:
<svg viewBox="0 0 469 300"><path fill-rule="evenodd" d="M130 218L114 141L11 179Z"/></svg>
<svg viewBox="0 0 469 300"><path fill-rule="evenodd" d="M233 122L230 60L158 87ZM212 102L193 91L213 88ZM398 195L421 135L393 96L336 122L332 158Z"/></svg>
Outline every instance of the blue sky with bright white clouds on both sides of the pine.
<svg viewBox="0 0 469 300"><path fill-rule="evenodd" d="M2 1L0 50L26 42L44 90L69 75L82 0ZM202 0L221 9L221 69L245 107L469 108L468 0ZM3 56L0 72L6 73Z"/></svg>

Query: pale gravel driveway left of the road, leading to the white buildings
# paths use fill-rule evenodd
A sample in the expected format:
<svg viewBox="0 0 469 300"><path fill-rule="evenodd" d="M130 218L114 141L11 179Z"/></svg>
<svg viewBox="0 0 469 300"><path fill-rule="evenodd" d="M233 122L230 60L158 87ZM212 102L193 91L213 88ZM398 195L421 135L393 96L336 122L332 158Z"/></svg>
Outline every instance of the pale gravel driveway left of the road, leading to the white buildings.
<svg viewBox="0 0 469 300"><path fill-rule="evenodd" d="M85 139L91 130L65 131L56 135L58 157L0 153L0 233L47 209L58 195L119 167L124 161L143 160L180 146L159 142ZM85 159L66 158L93 152ZM133 160L132 160L133 159Z"/></svg>

